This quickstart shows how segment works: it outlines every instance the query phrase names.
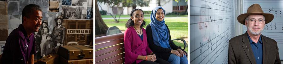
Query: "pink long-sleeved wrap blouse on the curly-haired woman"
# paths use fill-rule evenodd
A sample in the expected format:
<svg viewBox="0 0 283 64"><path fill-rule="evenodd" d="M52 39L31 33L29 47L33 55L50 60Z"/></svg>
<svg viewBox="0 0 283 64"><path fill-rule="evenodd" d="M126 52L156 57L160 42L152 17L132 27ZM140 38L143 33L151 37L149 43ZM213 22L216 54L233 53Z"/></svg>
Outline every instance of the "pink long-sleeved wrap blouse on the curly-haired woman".
<svg viewBox="0 0 283 64"><path fill-rule="evenodd" d="M125 64L131 64L136 61L136 64L143 60L137 60L138 55L146 56L152 53L148 47L146 30L142 28L143 40L136 33L133 26L127 28L124 34L125 46Z"/></svg>

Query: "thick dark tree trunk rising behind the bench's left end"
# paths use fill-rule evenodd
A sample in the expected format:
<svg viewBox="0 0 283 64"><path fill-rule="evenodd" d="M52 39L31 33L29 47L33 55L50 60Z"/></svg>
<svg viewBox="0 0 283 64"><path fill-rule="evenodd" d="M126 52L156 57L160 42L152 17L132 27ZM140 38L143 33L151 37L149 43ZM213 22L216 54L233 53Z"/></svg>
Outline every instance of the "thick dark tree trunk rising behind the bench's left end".
<svg viewBox="0 0 283 64"><path fill-rule="evenodd" d="M95 0L95 20L94 20L95 35L106 34L106 31L108 30L108 26L102 20L102 17L100 15L100 12L99 12L97 4L98 4L97 0Z"/></svg>

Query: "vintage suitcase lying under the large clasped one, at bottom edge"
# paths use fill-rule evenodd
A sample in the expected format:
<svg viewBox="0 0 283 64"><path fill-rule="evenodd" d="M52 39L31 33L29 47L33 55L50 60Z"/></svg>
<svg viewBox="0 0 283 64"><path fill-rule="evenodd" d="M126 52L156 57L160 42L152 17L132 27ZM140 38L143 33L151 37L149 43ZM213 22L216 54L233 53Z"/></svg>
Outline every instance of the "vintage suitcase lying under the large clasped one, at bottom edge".
<svg viewBox="0 0 283 64"><path fill-rule="evenodd" d="M79 60L66 60L63 57L60 57L62 64L93 64L93 58L91 59L79 59Z"/></svg>

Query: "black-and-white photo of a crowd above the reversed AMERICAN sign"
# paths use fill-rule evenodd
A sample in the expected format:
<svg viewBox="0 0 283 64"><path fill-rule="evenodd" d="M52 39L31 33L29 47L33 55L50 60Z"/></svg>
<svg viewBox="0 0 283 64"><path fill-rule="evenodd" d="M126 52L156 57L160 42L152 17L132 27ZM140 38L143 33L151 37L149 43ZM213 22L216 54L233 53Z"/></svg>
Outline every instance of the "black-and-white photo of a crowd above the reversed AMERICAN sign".
<svg viewBox="0 0 283 64"><path fill-rule="evenodd" d="M64 19L86 19L86 8L79 6L62 6Z"/></svg>

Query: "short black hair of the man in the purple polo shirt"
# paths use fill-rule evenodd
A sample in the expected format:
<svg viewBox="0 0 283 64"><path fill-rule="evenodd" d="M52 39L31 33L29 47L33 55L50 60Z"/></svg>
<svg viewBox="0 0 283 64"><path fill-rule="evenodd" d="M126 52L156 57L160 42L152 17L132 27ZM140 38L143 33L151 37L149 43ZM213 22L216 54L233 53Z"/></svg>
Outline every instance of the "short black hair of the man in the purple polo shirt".
<svg viewBox="0 0 283 64"><path fill-rule="evenodd" d="M22 23L24 23L24 16L30 18L30 15L32 15L33 11L42 11L42 10L41 7L36 4L29 4L25 6L25 8L22 11Z"/></svg>

